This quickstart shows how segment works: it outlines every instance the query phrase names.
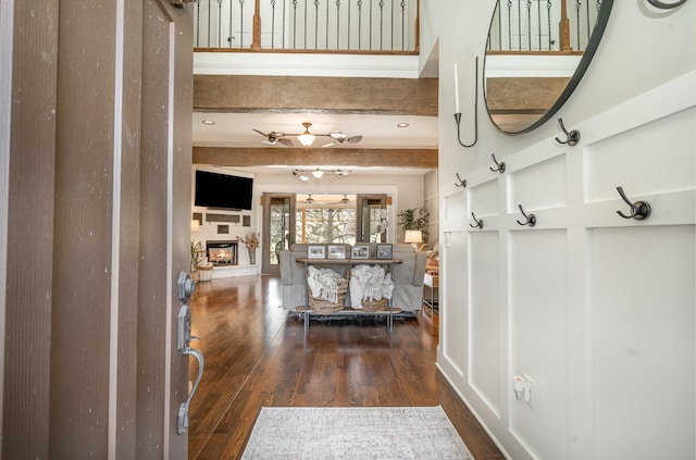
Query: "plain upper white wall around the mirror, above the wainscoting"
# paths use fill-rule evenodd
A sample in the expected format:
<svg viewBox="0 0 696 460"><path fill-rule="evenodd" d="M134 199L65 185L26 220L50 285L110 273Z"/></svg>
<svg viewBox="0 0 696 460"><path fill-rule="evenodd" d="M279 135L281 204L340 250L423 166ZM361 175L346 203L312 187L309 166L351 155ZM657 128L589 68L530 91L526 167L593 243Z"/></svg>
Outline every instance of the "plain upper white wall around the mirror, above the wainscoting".
<svg viewBox="0 0 696 460"><path fill-rule="evenodd" d="M439 170L440 183L448 177L455 181L455 171L465 172L488 164L490 153L497 158L520 150L539 139L557 136L560 129L548 122L540 128L524 135L500 134L488 121L480 90L478 142L463 149L457 145L456 125L452 119L453 62L459 64L459 92L462 111L462 140L472 136L474 71L473 62L480 57L483 69L484 48L494 1L476 0L423 0L428 9L437 8L446 14L436 24L439 34ZM694 69L696 60L696 28L694 2L679 10L656 13L643 0L614 0L611 18L583 80L570 100L558 113L566 126L587 120L620 102L639 95L661 83L675 78ZM691 23L689 23L691 21ZM691 24L691 27L689 27ZM427 24L423 24L425 26ZM423 35L428 35L423 33ZM481 71L480 71L481 78ZM481 84L481 80L480 80ZM481 86L480 86L481 88Z"/></svg>

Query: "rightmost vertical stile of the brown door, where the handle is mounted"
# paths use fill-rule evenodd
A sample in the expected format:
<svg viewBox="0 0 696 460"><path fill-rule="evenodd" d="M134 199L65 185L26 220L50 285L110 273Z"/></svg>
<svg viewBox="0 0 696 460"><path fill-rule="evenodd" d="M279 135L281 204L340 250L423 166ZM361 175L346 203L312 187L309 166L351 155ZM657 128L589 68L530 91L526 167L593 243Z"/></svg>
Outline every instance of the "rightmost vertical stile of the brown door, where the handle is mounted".
<svg viewBox="0 0 696 460"><path fill-rule="evenodd" d="M189 380L177 350L177 278L190 258L192 7L142 4L137 457L186 458L187 435L177 433Z"/></svg>

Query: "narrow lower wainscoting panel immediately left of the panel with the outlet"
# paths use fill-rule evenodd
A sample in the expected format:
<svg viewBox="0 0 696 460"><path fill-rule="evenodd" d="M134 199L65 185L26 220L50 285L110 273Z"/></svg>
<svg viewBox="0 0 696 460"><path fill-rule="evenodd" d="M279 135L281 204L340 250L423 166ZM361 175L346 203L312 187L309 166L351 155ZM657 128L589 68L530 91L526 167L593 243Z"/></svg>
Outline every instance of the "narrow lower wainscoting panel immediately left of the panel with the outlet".
<svg viewBox="0 0 696 460"><path fill-rule="evenodd" d="M505 374L500 341L500 281L498 232L469 234L469 383L500 417L500 375Z"/></svg>

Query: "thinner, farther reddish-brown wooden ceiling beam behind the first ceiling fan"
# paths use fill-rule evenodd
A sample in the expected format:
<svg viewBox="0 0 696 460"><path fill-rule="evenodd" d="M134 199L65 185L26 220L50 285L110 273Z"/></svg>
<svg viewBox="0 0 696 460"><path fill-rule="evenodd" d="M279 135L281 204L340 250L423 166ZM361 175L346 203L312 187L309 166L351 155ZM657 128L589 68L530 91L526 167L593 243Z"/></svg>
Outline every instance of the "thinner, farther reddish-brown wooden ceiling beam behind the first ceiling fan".
<svg viewBox="0 0 696 460"><path fill-rule="evenodd" d="M437 149L194 147L194 164L216 166L437 167Z"/></svg>

